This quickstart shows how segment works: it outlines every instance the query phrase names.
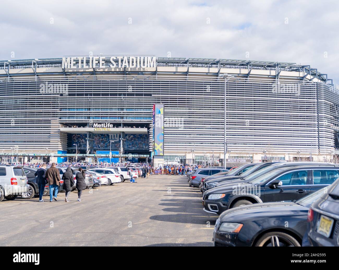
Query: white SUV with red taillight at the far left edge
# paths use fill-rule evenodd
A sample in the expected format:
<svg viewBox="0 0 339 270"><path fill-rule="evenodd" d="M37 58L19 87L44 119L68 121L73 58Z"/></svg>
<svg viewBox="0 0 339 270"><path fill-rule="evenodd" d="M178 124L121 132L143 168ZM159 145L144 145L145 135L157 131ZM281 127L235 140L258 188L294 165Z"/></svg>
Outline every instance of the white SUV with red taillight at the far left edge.
<svg viewBox="0 0 339 270"><path fill-rule="evenodd" d="M15 200L18 195L26 193L29 185L27 176L20 166L0 165L0 201Z"/></svg>

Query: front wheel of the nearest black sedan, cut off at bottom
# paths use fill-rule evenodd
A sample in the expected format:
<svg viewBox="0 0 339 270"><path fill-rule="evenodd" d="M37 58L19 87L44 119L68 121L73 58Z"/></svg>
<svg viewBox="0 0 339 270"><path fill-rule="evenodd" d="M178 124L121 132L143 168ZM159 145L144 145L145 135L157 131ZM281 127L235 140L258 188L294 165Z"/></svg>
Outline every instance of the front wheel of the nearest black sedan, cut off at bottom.
<svg viewBox="0 0 339 270"><path fill-rule="evenodd" d="M283 232L265 233L255 244L256 247L300 247L293 236Z"/></svg>

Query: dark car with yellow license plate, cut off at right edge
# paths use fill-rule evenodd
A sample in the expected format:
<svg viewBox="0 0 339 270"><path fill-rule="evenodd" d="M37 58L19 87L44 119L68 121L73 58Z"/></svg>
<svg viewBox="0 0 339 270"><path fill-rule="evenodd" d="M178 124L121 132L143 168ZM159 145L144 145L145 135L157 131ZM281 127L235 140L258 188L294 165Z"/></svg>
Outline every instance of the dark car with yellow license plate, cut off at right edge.
<svg viewBox="0 0 339 270"><path fill-rule="evenodd" d="M318 177L325 178L325 175ZM339 180L311 205L307 225L303 246L339 246Z"/></svg>

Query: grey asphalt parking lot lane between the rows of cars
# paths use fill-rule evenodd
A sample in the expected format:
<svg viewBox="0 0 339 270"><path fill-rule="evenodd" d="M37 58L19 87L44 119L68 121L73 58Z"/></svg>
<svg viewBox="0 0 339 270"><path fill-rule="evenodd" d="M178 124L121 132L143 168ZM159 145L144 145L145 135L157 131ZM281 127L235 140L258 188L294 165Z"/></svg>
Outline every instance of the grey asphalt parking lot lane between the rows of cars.
<svg viewBox="0 0 339 270"><path fill-rule="evenodd" d="M217 215L186 176L153 175L49 197L0 202L1 246L213 246Z"/></svg>

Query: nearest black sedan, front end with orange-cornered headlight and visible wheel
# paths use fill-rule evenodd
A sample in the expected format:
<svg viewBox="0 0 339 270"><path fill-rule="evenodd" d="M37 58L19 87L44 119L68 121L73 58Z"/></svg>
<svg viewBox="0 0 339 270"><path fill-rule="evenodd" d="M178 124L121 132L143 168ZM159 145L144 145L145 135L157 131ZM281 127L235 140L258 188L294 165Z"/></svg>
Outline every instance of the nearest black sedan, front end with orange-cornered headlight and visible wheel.
<svg viewBox="0 0 339 270"><path fill-rule="evenodd" d="M267 202L229 209L217 219L214 246L300 247L307 212L324 189L295 202Z"/></svg>

